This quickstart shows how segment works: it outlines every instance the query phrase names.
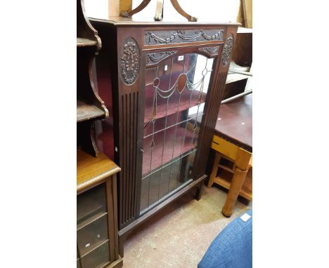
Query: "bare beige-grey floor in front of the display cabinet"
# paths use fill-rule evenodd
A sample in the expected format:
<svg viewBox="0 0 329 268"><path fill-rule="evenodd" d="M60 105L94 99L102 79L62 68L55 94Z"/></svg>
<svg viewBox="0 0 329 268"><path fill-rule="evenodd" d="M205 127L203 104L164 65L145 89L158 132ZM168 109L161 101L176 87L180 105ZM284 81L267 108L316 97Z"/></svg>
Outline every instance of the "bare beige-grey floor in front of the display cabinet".
<svg viewBox="0 0 329 268"><path fill-rule="evenodd" d="M214 237L252 208L238 199L233 215L224 217L227 193L203 187L200 201L188 192L134 229L124 244L124 268L197 267Z"/></svg>

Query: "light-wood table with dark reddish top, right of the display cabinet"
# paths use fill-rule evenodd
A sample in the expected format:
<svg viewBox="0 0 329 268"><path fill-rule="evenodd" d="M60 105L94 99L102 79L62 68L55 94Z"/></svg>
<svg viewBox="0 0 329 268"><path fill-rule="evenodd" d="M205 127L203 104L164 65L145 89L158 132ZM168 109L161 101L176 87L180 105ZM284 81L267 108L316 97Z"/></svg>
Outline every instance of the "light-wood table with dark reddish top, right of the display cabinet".
<svg viewBox="0 0 329 268"><path fill-rule="evenodd" d="M221 105L212 149L216 151L208 187L228 189L222 213L230 217L238 196L252 201L252 94ZM233 175L232 175L233 174Z"/></svg>

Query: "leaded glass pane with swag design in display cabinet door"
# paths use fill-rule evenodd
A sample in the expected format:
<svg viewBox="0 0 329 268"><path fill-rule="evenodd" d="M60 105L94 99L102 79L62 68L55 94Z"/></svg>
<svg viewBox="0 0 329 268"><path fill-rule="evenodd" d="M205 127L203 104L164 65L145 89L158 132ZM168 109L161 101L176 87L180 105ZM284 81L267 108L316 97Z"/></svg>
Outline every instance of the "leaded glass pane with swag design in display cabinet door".
<svg viewBox="0 0 329 268"><path fill-rule="evenodd" d="M186 53L146 68L141 214L193 180L212 65Z"/></svg>

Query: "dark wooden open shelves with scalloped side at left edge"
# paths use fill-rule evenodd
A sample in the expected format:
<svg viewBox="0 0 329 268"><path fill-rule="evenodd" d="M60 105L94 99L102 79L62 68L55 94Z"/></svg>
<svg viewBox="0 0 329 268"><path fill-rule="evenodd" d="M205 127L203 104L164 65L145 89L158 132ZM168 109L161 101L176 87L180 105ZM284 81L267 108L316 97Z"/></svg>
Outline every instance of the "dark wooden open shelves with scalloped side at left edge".
<svg viewBox="0 0 329 268"><path fill-rule="evenodd" d="M77 147L98 156L93 121L108 117L108 109L93 83L92 62L101 49L101 39L77 0Z"/></svg>

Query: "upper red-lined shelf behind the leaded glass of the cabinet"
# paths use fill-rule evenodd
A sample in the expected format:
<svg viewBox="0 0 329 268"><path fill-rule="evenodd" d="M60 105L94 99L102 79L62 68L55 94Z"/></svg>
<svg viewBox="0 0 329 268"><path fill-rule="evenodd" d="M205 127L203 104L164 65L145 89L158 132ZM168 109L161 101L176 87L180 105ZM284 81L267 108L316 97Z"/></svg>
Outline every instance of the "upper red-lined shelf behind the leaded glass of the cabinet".
<svg viewBox="0 0 329 268"><path fill-rule="evenodd" d="M201 103L205 102L207 93L201 93ZM176 114L177 112L184 111L193 106L198 105L198 98L200 91L192 91L191 94L176 94L170 97L169 102L167 100L161 100L158 98L156 105L156 118L160 119L165 116L170 116ZM179 96L181 97L179 99ZM177 105L179 103L179 106ZM144 114L144 124L148 123L153 117L153 98L146 99L145 114Z"/></svg>

